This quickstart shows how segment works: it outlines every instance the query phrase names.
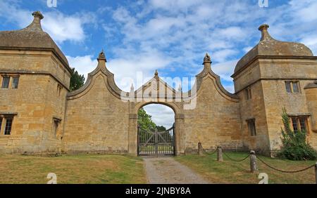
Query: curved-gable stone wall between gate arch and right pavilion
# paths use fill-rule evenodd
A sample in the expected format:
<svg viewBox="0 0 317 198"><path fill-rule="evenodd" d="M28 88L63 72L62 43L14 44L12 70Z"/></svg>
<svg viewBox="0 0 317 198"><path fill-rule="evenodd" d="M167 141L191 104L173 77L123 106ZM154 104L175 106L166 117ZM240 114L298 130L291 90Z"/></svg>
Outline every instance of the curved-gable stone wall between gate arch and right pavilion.
<svg viewBox="0 0 317 198"><path fill-rule="evenodd" d="M221 93L211 74L202 79L196 100L193 110L184 111L186 150L197 150L199 142L205 150L213 150L218 145L241 150L239 100Z"/></svg>

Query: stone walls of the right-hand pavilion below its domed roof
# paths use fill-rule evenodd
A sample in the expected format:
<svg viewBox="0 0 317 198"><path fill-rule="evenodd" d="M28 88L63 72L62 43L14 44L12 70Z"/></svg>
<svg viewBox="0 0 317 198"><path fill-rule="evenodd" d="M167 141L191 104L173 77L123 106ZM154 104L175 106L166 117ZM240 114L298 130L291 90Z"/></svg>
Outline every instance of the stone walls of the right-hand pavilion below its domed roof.
<svg viewBox="0 0 317 198"><path fill-rule="evenodd" d="M290 115L309 116L304 87L317 79L317 65L311 59L259 58L235 75L236 93L240 98L243 141L249 149L275 152L281 146L282 108ZM287 93L285 81L299 81L299 93ZM251 99L245 90L251 88ZM310 96L311 98L311 96ZM249 135L247 119L256 121L256 136ZM308 117L309 139L315 142ZM314 144L314 143L313 143Z"/></svg>

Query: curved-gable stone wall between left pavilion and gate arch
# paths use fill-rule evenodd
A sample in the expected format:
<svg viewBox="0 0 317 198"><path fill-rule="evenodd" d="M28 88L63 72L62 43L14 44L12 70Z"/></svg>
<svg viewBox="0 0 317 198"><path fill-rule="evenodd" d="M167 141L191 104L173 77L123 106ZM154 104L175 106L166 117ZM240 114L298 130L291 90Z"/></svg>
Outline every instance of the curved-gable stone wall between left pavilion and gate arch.
<svg viewBox="0 0 317 198"><path fill-rule="evenodd" d="M129 103L111 91L105 65L68 96L63 152L128 152Z"/></svg>

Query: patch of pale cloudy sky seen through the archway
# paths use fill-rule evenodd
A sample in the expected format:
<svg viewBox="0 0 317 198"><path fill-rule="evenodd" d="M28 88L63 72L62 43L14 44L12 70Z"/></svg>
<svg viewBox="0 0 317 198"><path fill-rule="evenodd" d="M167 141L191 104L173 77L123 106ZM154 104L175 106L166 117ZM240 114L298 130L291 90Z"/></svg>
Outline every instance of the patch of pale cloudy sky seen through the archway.
<svg viewBox="0 0 317 198"><path fill-rule="evenodd" d="M152 120L158 126L165 126L168 129L175 122L174 111L166 105L150 104L144 106L144 110L151 115Z"/></svg>

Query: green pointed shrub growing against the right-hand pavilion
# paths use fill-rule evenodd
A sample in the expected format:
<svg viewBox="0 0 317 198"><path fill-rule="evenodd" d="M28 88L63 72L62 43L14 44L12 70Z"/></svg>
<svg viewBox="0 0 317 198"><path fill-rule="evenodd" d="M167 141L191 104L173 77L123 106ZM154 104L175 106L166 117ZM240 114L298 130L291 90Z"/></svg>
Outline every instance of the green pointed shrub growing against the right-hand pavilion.
<svg viewBox="0 0 317 198"><path fill-rule="evenodd" d="M306 131L294 133L290 126L290 118L285 108L282 110L282 148L278 155L290 160L314 160L317 159L317 152L306 141Z"/></svg>

